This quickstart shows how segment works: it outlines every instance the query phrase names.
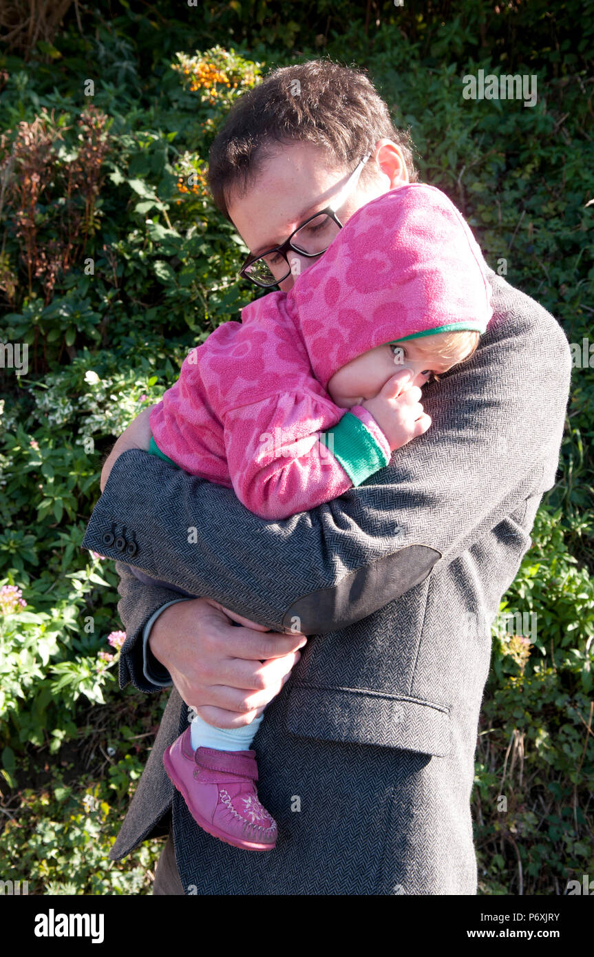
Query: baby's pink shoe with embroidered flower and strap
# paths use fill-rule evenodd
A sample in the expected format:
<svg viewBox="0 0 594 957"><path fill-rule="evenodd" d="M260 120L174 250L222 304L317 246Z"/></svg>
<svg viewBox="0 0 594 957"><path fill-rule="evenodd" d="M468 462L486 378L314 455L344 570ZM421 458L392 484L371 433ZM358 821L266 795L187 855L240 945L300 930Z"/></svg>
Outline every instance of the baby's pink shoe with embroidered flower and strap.
<svg viewBox="0 0 594 957"><path fill-rule="evenodd" d="M163 763L197 824L246 851L272 851L276 822L258 801L255 751L192 750L190 729L165 748Z"/></svg>

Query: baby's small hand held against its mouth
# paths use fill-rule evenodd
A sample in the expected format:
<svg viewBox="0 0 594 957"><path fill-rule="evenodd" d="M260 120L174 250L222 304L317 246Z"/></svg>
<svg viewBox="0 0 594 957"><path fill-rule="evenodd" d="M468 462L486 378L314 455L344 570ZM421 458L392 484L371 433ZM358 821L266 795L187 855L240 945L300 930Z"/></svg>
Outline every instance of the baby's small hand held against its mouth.
<svg viewBox="0 0 594 957"><path fill-rule="evenodd" d="M431 424L419 402L423 394L421 389L409 387L409 382L410 373L402 369L387 380L378 395L362 402L363 409L371 412L385 434L392 452L427 432Z"/></svg>

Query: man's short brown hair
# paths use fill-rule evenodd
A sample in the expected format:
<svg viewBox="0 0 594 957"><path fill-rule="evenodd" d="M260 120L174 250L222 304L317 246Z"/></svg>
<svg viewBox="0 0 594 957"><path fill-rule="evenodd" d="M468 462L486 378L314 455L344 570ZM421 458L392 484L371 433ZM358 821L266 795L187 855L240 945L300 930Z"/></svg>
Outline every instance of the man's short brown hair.
<svg viewBox="0 0 594 957"><path fill-rule="evenodd" d="M326 59L278 67L235 101L210 146L212 197L230 219L231 192L245 194L275 144L311 143L333 167L348 167L384 138L401 147L414 183L410 136L393 126L385 101L362 71ZM368 167L362 179L374 175Z"/></svg>

